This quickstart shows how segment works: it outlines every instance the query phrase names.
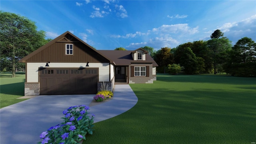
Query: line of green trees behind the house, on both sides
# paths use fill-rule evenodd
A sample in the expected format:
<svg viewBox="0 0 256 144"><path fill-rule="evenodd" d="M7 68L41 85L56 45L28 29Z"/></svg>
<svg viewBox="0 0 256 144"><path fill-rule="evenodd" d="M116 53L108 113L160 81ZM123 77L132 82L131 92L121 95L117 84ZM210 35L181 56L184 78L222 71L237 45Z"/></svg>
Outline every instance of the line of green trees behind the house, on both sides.
<svg viewBox="0 0 256 144"><path fill-rule="evenodd" d="M24 67L18 60L48 43L46 32L37 30L35 22L26 17L0 11L0 71L12 71ZM178 74L222 73L234 76L256 76L256 43L248 37L232 46L224 33L215 30L208 41L180 44L176 48L147 50L158 64L157 72ZM116 48L115 50L126 50Z"/></svg>

